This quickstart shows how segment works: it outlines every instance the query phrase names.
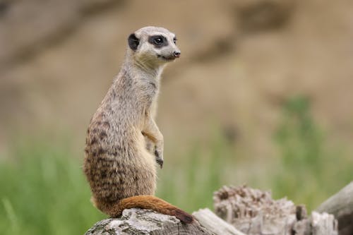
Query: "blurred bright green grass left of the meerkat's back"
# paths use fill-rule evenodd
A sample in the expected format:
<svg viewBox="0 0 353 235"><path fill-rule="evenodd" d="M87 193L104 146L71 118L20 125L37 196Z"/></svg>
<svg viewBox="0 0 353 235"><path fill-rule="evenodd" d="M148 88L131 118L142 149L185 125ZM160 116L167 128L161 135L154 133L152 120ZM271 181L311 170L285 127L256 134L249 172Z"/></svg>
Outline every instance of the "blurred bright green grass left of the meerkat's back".
<svg viewBox="0 0 353 235"><path fill-rule="evenodd" d="M0 164L1 234L83 234L104 216L68 147L16 146Z"/></svg>

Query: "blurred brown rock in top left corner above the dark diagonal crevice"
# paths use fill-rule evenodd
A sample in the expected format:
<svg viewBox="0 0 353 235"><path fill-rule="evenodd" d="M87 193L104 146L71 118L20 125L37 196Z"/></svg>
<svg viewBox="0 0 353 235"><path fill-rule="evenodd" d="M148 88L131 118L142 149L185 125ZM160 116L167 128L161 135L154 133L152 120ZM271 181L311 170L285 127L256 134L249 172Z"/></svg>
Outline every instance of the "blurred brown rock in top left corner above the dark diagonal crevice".
<svg viewBox="0 0 353 235"><path fill-rule="evenodd" d="M48 44L64 40L85 13L100 11L121 1L1 1L0 69L28 58Z"/></svg>

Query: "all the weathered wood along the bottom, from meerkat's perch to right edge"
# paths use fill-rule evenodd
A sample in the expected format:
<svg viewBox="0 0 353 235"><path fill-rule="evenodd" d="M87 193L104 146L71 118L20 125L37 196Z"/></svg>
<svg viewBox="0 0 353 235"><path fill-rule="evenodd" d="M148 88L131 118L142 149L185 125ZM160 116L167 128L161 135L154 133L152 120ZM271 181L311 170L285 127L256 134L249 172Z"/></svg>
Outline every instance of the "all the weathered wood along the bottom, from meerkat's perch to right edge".
<svg viewBox="0 0 353 235"><path fill-rule="evenodd" d="M273 200L269 192L246 186L224 186L213 199L219 217L203 209L193 212L195 222L183 224L176 217L133 208L124 210L120 218L97 222L85 235L337 235L334 215L341 223L340 235L353 234L353 182L309 217L304 205L286 198Z"/></svg>

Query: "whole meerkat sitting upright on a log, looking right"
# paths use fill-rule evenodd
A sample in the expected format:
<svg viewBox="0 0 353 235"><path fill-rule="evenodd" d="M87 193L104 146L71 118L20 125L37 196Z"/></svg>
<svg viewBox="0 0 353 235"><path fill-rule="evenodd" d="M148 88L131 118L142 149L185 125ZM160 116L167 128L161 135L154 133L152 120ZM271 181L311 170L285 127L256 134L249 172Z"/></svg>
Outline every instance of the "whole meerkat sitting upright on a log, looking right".
<svg viewBox="0 0 353 235"><path fill-rule="evenodd" d="M193 217L154 196L157 164L163 164L163 136L154 118L164 66L179 58L174 33L140 28L128 36L121 71L88 126L83 171L92 203L110 217L140 207L181 222Z"/></svg>

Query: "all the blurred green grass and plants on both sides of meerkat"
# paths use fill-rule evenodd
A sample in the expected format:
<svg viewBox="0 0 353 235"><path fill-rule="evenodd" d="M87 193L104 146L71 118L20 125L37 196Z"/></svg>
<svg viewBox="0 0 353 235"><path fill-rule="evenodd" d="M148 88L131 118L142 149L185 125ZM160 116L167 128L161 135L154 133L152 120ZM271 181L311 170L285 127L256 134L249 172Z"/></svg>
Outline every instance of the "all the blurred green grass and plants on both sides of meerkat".
<svg viewBox="0 0 353 235"><path fill-rule="evenodd" d="M0 234L83 234L106 217L91 205L82 159L73 156L66 141L21 143L0 156ZM265 174L255 174L244 167L255 166L256 159L244 164L246 156L238 156L215 133L211 145L195 144L189 154L165 162L157 195L192 212L213 208L213 191L220 186L247 182L312 209L353 179L352 159L328 145L305 97L292 97L283 105L274 144L279 155L260 167ZM239 172L245 172L241 179Z"/></svg>

